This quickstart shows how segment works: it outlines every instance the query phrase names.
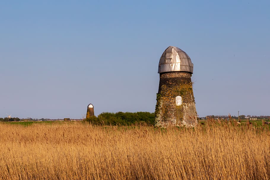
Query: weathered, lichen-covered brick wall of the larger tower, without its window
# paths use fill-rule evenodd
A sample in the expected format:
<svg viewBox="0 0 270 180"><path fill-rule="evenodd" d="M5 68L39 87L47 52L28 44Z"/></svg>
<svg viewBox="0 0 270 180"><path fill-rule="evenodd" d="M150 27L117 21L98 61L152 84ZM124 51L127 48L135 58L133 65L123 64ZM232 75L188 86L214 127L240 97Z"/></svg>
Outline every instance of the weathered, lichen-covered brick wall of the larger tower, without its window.
<svg viewBox="0 0 270 180"><path fill-rule="evenodd" d="M182 105L176 106L176 96L182 97ZM191 73L180 71L160 74L155 113L155 126L193 127L197 124Z"/></svg>

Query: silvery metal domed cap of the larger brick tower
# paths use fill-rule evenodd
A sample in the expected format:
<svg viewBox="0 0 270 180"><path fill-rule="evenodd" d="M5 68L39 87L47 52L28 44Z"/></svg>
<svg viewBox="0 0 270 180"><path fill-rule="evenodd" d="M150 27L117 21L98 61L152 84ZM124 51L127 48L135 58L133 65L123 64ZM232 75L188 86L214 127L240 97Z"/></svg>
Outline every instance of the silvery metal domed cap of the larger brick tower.
<svg viewBox="0 0 270 180"><path fill-rule="evenodd" d="M193 63L190 57L178 47L169 46L161 55L158 73L185 71L193 74Z"/></svg>

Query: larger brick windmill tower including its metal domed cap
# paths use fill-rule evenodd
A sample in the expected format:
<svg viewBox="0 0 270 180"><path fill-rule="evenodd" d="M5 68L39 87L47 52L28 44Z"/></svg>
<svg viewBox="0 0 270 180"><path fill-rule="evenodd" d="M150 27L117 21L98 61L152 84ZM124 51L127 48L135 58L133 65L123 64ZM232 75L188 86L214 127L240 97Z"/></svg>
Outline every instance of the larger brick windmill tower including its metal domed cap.
<svg viewBox="0 0 270 180"><path fill-rule="evenodd" d="M155 126L197 125L191 75L193 63L181 49L169 46L158 64L159 87Z"/></svg>

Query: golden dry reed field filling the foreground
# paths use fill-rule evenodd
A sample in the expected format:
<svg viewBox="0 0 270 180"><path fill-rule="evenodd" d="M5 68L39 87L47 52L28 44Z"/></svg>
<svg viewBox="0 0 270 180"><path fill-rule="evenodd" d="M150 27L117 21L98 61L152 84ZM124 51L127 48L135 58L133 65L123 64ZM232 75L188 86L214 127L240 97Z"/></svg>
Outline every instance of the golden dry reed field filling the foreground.
<svg viewBox="0 0 270 180"><path fill-rule="evenodd" d="M0 179L270 179L269 126L0 123Z"/></svg>

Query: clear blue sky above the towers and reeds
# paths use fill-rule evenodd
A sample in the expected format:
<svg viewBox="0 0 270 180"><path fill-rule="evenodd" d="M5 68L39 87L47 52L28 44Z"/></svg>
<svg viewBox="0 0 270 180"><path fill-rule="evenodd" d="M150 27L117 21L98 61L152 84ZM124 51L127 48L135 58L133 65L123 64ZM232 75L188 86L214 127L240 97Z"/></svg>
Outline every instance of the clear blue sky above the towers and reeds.
<svg viewBox="0 0 270 180"><path fill-rule="evenodd" d="M168 46L196 109L270 114L270 1L0 1L0 117L155 111ZM7 113L7 114L6 114Z"/></svg>

